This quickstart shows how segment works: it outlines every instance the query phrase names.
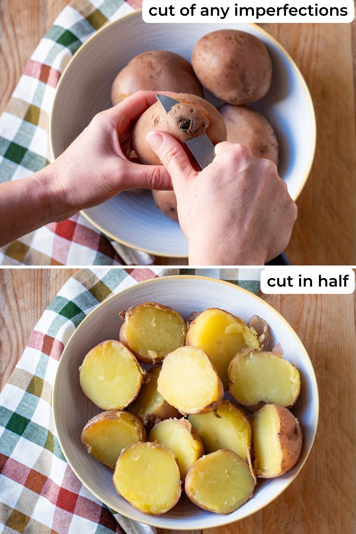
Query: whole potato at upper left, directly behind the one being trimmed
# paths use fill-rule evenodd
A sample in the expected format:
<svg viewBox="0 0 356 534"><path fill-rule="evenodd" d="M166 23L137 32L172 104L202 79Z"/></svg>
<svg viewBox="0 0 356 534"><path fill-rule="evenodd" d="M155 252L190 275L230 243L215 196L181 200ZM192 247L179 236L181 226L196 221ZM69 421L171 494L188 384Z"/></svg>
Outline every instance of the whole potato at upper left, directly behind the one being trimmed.
<svg viewBox="0 0 356 534"><path fill-rule="evenodd" d="M203 88L189 61L167 50L148 50L132 58L114 80L112 103L115 106L141 90L203 96Z"/></svg>

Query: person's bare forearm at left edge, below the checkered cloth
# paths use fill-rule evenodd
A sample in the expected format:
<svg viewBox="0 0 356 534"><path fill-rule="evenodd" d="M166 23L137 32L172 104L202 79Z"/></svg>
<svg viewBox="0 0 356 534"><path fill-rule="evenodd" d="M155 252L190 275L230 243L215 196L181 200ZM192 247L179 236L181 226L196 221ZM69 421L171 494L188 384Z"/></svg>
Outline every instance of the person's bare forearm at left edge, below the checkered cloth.
<svg viewBox="0 0 356 534"><path fill-rule="evenodd" d="M66 218L56 166L51 163L29 176L0 184L0 246Z"/></svg>

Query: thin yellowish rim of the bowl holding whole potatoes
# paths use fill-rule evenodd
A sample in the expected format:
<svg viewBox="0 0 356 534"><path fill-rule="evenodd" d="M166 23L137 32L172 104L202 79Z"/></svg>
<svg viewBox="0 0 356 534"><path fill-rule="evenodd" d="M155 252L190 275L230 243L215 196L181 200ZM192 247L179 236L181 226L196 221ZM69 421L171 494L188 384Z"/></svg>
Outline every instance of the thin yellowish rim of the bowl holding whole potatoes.
<svg viewBox="0 0 356 534"><path fill-rule="evenodd" d="M56 93L54 95L51 114L50 114L50 118L49 118L49 127L48 127L49 148L50 148L50 152L51 152L51 155L52 155L52 160L54 160L54 151L53 151L53 142L52 142L53 110L54 110L54 107L56 106L56 101L57 101L57 97L58 97L59 88L61 86L62 81L65 78L65 74L66 74L68 68L70 67L72 62L76 60L77 56L81 53L81 51L84 50L85 45L88 44L90 41L92 41L94 38L96 38L99 33L105 32L108 28L112 27L113 25L115 25L117 23L120 23L122 20L124 20L124 19L126 19L128 17L136 16L138 13L141 13L141 12L142 12L142 9L137 9L137 10L132 11L131 13L126 13L126 14L122 15L122 17L120 17L120 18L118 18L116 20L112 20L112 21L106 22L104 24L104 26L101 26L101 28L99 28L86 41L84 41L84 43L80 46L80 48L73 54L72 58L70 58L70 60L68 61L65 69L63 70L63 72L62 72L62 74L61 74L61 76L59 78L59 82L58 82L57 87L56 87ZM315 109L314 109L313 100L312 100L312 97L311 97L310 90L309 90L309 88L308 88L308 86L306 84L306 81L304 80L304 77L303 77L302 73L300 72L299 68L296 65L296 62L291 58L291 56L289 55L287 50L284 49L283 46L270 33L268 33L264 28L261 28L260 26L258 26L258 24L254 23L254 22L246 22L246 25L255 28L258 32L260 32L265 37L267 37L268 40L270 40L279 49L279 51L282 53L282 55L288 60L288 62L290 63L291 67L294 69L295 74L299 78L299 81L300 81L300 83L301 83L301 85L302 85L302 87L304 89L305 95L306 95L306 100L307 100L308 105L309 105L310 114L311 114L312 129L313 129L313 131L312 131L312 145L313 145L313 148L312 148L312 152L311 152L311 155L310 155L310 160L308 161L308 165L307 165L307 169L306 169L305 175L304 175L302 181L300 182L300 185L299 185L299 188L298 188L296 194L293 197L293 200L296 201L298 199L300 193L304 189L304 186L305 186L305 184L307 182L307 179L308 179L308 177L310 175L310 172L311 172L311 169L312 169L312 166L313 166L313 162L314 162L314 158L315 158L315 150L316 150L316 147L317 147L317 119L316 119L316 116L315 116ZM87 219L87 221L89 221L101 233L103 233L108 238L112 239L113 241L116 241L116 242L120 243L121 245L124 245L124 246L129 247L129 248L133 248L135 250L141 250L142 252L146 252L147 254L151 254L153 256L159 256L159 257L167 256L167 254L164 254L162 252L157 252L156 250L150 250L150 249L146 249L146 248L141 248L141 247L138 247L137 245L133 245L132 243L129 243L128 241L124 241L123 239L117 237L117 235L113 234L112 232L109 232L109 231L105 230L100 224L98 224L96 221L94 221L92 219L92 217L87 213L86 209L82 209L81 210L81 214ZM186 254L169 254L169 257L171 257L171 258L186 258L187 255Z"/></svg>

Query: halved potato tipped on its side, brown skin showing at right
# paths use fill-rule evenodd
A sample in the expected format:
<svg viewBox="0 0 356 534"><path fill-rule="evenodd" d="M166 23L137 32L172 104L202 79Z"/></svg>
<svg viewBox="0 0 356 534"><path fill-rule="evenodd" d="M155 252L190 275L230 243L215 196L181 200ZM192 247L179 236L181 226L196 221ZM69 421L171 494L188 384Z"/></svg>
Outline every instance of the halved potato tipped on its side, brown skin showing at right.
<svg viewBox="0 0 356 534"><path fill-rule="evenodd" d="M257 476L273 478L294 467L303 438L298 419L287 408L265 404L254 413L252 428Z"/></svg>

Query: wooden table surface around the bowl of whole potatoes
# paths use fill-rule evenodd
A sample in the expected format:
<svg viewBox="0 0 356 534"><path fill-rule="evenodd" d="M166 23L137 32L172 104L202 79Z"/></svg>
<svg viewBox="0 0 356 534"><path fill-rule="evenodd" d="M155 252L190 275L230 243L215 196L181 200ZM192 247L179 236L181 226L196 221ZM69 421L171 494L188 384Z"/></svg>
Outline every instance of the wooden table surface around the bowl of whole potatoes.
<svg viewBox="0 0 356 534"><path fill-rule="evenodd" d="M1 0L0 112L30 54L67 0ZM264 24L287 49L311 90L318 146L300 195L287 254L292 264L356 264L356 22ZM157 258L158 264L176 260Z"/></svg>

